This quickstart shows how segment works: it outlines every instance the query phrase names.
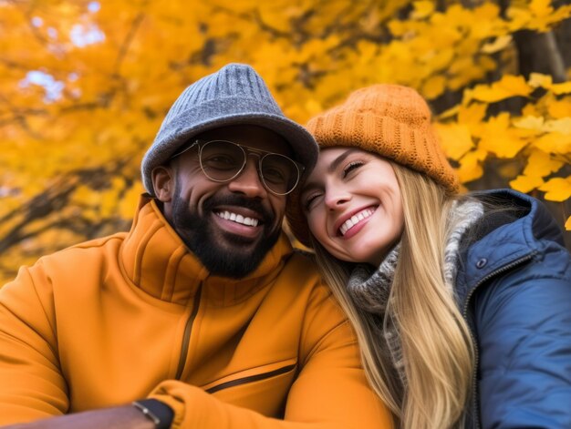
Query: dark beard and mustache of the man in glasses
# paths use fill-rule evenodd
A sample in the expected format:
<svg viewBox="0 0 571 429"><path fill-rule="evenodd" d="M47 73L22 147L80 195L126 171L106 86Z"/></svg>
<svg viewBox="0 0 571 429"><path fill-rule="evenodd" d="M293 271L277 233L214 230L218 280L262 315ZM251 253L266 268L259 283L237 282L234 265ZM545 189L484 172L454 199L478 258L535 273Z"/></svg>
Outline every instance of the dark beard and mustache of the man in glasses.
<svg viewBox="0 0 571 429"><path fill-rule="evenodd" d="M211 216L215 207L220 206L253 209L262 216L263 237L255 245L254 250L244 252L241 247L252 241L239 235L216 231L223 234L224 240L229 245L221 245L216 240L213 230L215 227L208 217ZM279 228L272 230L275 224L274 214L266 210L256 199L240 195L230 195L225 198L213 196L204 200L202 213L201 216L198 209L191 211L188 204L180 197L179 189L175 189L172 198L172 227L184 244L201 260L202 265L216 275L235 279L243 278L257 268L280 236Z"/></svg>

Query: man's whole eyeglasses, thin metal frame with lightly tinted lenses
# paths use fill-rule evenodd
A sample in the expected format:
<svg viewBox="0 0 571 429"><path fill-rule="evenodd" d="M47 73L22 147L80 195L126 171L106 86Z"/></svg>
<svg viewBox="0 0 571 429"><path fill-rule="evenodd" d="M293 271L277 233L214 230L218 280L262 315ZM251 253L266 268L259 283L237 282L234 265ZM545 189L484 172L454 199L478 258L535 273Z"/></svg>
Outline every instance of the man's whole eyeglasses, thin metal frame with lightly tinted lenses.
<svg viewBox="0 0 571 429"><path fill-rule="evenodd" d="M196 140L187 148L175 153L176 158L191 148L198 147L204 175L215 182L237 178L244 170L250 155L258 157L258 175L265 189L275 195L287 195L296 189L305 167L279 153L250 148L229 140Z"/></svg>

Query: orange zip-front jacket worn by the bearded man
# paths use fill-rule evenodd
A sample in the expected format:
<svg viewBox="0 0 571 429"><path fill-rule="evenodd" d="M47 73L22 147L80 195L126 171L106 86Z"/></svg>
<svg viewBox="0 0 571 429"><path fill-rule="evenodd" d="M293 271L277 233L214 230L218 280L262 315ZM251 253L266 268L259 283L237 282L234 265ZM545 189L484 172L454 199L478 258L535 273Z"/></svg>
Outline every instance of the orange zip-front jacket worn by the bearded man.
<svg viewBox="0 0 571 429"><path fill-rule="evenodd" d="M173 428L376 428L348 322L285 236L240 281L206 271L155 202L130 232L0 289L0 424L153 396Z"/></svg>

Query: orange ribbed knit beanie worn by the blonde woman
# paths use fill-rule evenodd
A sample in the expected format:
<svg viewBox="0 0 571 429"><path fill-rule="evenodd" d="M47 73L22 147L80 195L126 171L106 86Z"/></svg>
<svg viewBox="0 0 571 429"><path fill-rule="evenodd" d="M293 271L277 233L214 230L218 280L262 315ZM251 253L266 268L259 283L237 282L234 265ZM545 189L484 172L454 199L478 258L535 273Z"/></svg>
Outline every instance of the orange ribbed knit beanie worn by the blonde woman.
<svg viewBox="0 0 571 429"><path fill-rule="evenodd" d="M431 109L410 87L381 84L353 92L341 105L309 120L306 128L320 148L353 147L378 154L428 175L450 193L458 178L431 124ZM296 204L287 210L290 229L305 245L309 233Z"/></svg>

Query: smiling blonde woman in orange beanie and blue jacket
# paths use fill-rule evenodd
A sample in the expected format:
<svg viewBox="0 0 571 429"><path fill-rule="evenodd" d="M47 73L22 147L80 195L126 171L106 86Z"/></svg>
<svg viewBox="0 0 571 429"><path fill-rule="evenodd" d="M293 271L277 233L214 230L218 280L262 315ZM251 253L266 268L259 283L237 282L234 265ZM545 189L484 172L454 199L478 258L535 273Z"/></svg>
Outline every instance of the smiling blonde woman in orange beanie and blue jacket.
<svg viewBox="0 0 571 429"><path fill-rule="evenodd" d="M407 87L360 89L307 128L321 153L288 221L395 422L571 427L571 258L544 206L459 196Z"/></svg>

